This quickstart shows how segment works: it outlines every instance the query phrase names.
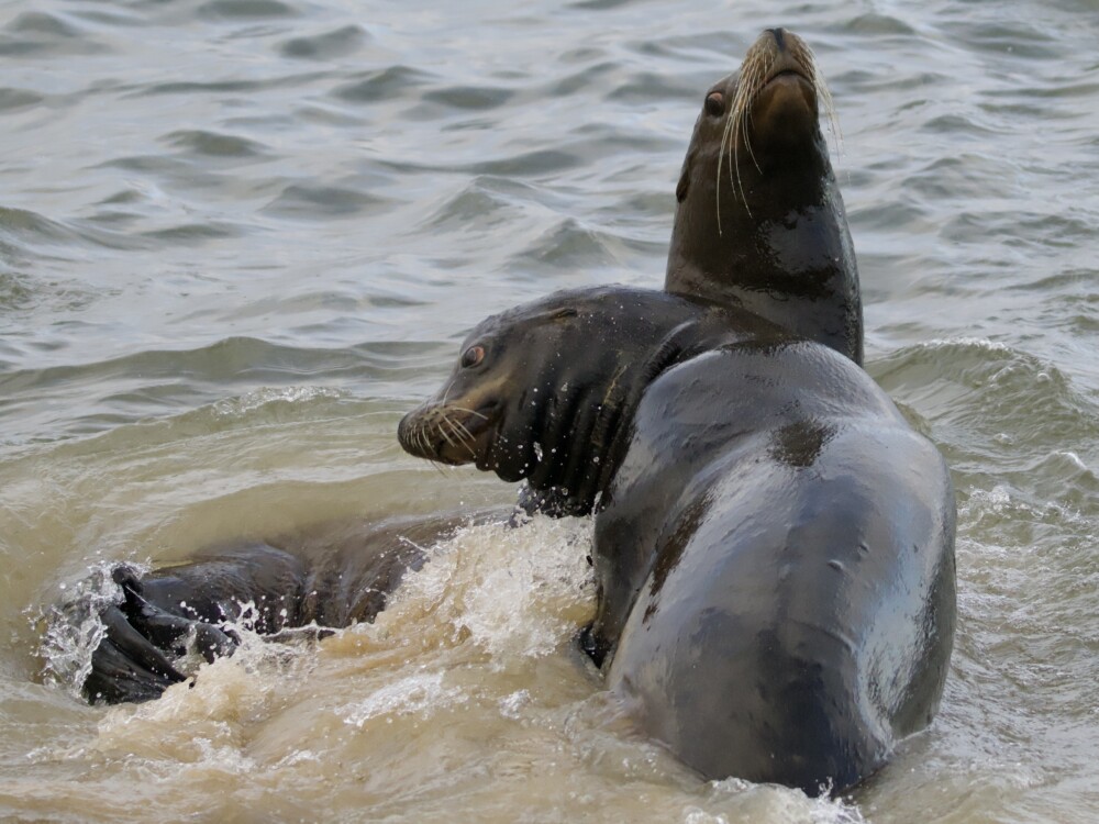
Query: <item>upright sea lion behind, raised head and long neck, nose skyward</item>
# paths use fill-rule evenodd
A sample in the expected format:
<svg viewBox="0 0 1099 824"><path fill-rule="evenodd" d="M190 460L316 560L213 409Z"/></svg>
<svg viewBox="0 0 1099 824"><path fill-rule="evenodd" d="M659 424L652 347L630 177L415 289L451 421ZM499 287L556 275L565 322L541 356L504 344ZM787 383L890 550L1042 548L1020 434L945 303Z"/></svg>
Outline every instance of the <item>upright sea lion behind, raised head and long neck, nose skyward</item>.
<svg viewBox="0 0 1099 824"><path fill-rule="evenodd" d="M741 305L862 364L858 269L818 98L831 112L812 52L784 29L707 91L676 187L665 289Z"/></svg>

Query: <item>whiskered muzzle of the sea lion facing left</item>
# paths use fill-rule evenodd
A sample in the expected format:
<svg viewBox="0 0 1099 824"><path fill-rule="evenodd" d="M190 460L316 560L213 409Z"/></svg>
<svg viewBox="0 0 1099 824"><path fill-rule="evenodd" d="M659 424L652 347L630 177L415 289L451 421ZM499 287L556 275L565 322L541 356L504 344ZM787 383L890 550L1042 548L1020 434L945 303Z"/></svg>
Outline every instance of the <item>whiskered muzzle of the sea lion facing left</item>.
<svg viewBox="0 0 1099 824"><path fill-rule="evenodd" d="M425 403L409 412L397 426L401 447L418 458L447 466L480 464L489 454L499 404L477 409L458 403Z"/></svg>

